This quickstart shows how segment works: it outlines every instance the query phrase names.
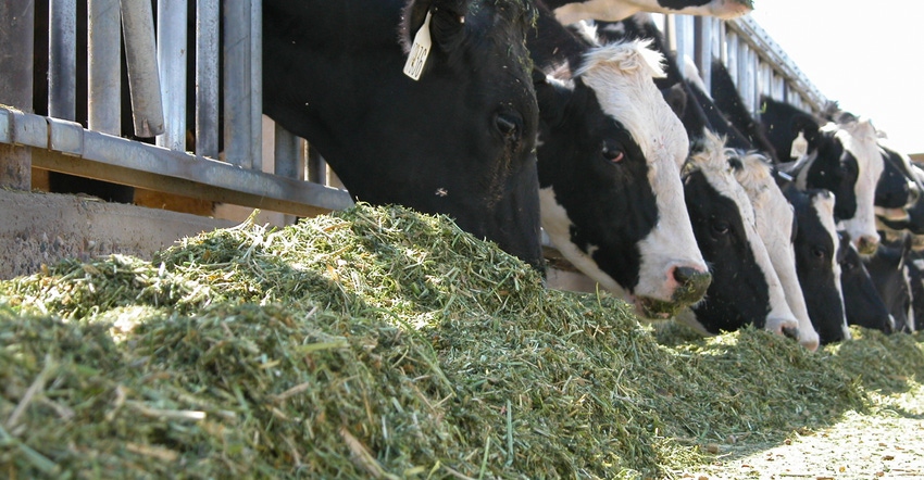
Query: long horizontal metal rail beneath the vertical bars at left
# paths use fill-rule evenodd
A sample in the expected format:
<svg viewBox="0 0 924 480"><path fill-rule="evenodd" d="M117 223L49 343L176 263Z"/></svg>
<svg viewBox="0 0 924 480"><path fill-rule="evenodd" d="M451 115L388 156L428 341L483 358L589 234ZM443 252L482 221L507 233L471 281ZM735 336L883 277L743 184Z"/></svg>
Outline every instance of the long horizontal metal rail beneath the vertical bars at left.
<svg viewBox="0 0 924 480"><path fill-rule="evenodd" d="M253 209L314 216L353 204L342 190L7 108L0 108L0 143L33 147L39 168Z"/></svg>

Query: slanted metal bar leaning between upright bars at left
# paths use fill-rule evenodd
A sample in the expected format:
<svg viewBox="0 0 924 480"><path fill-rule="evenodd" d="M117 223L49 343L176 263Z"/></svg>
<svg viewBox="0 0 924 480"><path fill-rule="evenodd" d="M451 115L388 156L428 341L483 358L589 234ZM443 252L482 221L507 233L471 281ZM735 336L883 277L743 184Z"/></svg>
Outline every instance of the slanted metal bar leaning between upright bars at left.
<svg viewBox="0 0 924 480"><path fill-rule="evenodd" d="M164 113L158 56L154 45L154 14L150 0L122 1L122 31L125 62L132 91L135 135L150 138L163 134ZM115 93L113 93L115 94Z"/></svg>

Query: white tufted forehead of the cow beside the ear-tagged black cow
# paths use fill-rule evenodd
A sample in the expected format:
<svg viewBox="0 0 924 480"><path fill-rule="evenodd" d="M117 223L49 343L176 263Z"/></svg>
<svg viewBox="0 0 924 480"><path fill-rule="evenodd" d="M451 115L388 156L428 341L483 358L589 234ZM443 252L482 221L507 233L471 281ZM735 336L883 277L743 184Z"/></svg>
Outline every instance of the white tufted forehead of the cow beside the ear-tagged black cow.
<svg viewBox="0 0 924 480"><path fill-rule="evenodd" d="M577 75L594 89L600 108L629 131L649 162L665 155L679 167L689 140L676 114L654 85L663 56L649 41L614 42L590 49Z"/></svg>

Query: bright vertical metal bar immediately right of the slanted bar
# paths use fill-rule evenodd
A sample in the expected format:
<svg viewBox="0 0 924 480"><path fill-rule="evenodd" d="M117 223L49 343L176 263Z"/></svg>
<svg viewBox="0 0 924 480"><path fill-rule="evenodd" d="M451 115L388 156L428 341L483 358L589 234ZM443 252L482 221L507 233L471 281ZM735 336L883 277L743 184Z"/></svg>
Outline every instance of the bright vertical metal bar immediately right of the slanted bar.
<svg viewBox="0 0 924 480"><path fill-rule="evenodd" d="M186 151L186 0L158 0L158 72L164 132L158 146Z"/></svg>

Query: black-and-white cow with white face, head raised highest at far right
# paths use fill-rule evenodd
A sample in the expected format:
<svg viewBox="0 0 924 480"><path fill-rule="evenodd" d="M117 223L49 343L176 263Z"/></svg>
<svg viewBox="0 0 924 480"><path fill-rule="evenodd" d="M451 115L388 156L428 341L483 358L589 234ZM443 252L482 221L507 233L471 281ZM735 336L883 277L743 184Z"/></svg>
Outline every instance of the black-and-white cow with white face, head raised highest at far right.
<svg viewBox="0 0 924 480"><path fill-rule="evenodd" d="M861 253L874 252L879 240L874 195L885 165L872 123L844 112L834 114L835 122L825 122L766 96L761 104L762 131L783 162L779 168L801 189L832 191L839 228Z"/></svg>

